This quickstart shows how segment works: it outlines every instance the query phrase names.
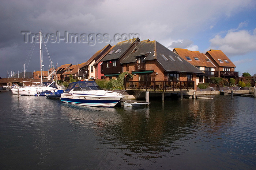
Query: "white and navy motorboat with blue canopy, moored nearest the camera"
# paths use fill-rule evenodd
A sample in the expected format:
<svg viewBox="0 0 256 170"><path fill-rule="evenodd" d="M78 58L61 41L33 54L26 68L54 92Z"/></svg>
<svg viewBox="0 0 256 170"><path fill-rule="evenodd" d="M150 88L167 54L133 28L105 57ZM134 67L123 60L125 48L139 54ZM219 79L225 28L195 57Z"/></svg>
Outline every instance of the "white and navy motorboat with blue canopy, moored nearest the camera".
<svg viewBox="0 0 256 170"><path fill-rule="evenodd" d="M80 81L70 83L60 99L63 103L83 106L114 107L123 99L123 95L101 90L93 81Z"/></svg>

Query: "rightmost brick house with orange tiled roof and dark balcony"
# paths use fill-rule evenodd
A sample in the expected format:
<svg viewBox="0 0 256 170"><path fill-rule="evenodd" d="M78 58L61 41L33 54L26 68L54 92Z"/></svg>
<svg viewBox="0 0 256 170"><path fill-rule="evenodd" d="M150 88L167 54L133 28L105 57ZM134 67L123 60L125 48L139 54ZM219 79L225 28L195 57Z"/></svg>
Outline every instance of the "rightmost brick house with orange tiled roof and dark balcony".
<svg viewBox="0 0 256 170"><path fill-rule="evenodd" d="M236 65L221 50L207 51L206 56L216 66L215 77L222 77L228 81L230 78L234 78L238 83L238 72L235 71Z"/></svg>

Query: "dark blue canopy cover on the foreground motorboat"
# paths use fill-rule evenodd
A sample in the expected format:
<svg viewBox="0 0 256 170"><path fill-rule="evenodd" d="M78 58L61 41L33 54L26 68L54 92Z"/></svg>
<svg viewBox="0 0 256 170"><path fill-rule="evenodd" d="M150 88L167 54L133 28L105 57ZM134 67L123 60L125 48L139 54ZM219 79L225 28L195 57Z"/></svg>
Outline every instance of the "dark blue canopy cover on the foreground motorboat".
<svg viewBox="0 0 256 170"><path fill-rule="evenodd" d="M70 91L71 89L84 91L84 90L102 90L96 82L93 81L80 81L70 83L65 91Z"/></svg>

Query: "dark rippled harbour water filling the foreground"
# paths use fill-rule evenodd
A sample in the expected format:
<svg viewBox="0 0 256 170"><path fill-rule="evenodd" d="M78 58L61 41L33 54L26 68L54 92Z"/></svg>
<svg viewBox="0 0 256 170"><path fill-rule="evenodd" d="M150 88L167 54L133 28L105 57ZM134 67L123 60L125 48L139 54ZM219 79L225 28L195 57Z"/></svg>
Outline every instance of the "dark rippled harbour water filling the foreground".
<svg viewBox="0 0 256 170"><path fill-rule="evenodd" d="M256 99L99 108L0 92L0 169L255 169Z"/></svg>

